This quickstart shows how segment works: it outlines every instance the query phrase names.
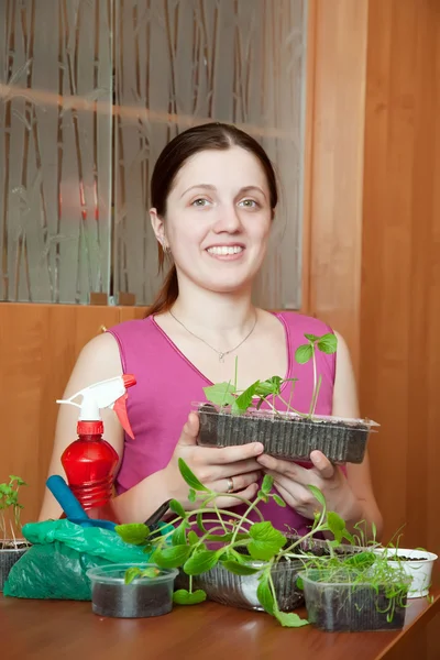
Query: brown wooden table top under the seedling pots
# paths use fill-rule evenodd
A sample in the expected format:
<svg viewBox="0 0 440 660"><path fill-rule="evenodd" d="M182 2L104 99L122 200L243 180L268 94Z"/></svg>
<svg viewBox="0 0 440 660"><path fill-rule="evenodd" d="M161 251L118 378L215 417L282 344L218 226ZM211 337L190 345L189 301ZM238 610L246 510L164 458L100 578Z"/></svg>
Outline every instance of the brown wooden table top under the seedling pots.
<svg viewBox="0 0 440 660"><path fill-rule="evenodd" d="M175 607L151 619L117 619L94 615L90 603L0 595L0 647L8 660L421 660L406 651L415 631L440 612L440 588L432 595L431 604L410 601L403 630L338 634L282 628L267 614L217 603Z"/></svg>

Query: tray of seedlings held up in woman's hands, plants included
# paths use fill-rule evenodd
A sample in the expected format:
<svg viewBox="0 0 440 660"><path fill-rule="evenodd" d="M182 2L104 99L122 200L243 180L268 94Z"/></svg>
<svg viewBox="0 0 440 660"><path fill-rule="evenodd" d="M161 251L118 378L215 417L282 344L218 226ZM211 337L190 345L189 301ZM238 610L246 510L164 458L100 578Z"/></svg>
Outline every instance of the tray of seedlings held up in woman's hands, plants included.
<svg viewBox="0 0 440 660"><path fill-rule="evenodd" d="M200 418L199 444L229 447L262 442L266 453L286 460L308 461L311 451L320 450L334 463L362 463L371 428L378 425L366 419L315 414L322 382L317 373L316 352L334 353L337 338L333 333L305 337L308 343L296 350L295 359L298 364L312 362L314 389L308 413L292 406L294 388L300 387L296 378L273 376L238 391L235 362L234 383L205 387L208 403L195 404ZM290 382L289 400L282 396L287 382Z"/></svg>

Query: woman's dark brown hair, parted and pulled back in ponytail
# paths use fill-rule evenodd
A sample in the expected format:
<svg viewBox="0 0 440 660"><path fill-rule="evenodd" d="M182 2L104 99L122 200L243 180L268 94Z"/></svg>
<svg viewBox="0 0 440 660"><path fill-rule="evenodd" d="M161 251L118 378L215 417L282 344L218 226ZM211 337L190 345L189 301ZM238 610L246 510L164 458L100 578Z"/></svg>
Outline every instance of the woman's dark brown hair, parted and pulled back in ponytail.
<svg viewBox="0 0 440 660"><path fill-rule="evenodd" d="M163 150L154 166L151 179L151 202L157 211L157 216L164 218L166 213L166 200L173 187L177 173L185 162L206 150L227 150L231 146L240 146L256 156L264 169L270 189L271 208L274 211L278 201L278 189L273 165L264 148L240 129L224 123L207 123L184 131L172 140ZM158 250L158 272L164 268L165 253L162 245ZM154 302L147 310L146 316L162 314L173 307L178 296L178 282L176 266L173 265L158 292Z"/></svg>

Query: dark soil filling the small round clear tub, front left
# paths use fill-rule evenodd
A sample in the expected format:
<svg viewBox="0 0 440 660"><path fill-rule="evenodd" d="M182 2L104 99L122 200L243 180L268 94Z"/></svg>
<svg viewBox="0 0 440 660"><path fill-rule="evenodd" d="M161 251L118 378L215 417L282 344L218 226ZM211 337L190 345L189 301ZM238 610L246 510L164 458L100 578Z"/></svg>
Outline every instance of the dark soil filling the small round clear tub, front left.
<svg viewBox="0 0 440 660"><path fill-rule="evenodd" d="M141 618L162 616L172 610L169 585L95 584L92 609L100 616Z"/></svg>

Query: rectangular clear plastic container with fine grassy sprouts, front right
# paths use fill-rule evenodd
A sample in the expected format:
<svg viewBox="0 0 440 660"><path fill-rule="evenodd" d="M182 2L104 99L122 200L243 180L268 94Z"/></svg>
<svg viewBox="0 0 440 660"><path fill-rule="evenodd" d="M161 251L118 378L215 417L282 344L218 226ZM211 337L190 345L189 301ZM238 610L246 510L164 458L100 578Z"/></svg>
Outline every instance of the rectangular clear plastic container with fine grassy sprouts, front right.
<svg viewBox="0 0 440 660"><path fill-rule="evenodd" d="M406 595L395 603L388 617L389 601L385 587L374 588L369 583L324 582L318 570L299 574L308 619L327 632L364 632L367 630L398 630L404 627ZM391 620L388 620L391 618Z"/></svg>

